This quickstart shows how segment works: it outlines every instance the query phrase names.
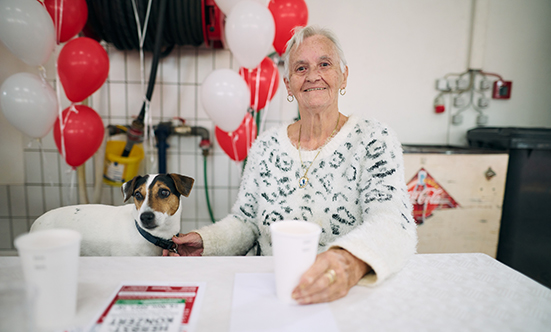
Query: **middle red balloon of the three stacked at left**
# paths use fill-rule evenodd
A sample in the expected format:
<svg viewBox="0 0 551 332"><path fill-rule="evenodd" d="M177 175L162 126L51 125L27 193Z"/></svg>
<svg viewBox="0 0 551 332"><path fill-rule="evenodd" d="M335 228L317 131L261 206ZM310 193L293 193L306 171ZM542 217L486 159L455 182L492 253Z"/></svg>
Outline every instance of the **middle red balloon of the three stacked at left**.
<svg viewBox="0 0 551 332"><path fill-rule="evenodd" d="M109 74L109 57L97 41L76 38L59 52L57 72L67 98L78 103L103 85Z"/></svg>

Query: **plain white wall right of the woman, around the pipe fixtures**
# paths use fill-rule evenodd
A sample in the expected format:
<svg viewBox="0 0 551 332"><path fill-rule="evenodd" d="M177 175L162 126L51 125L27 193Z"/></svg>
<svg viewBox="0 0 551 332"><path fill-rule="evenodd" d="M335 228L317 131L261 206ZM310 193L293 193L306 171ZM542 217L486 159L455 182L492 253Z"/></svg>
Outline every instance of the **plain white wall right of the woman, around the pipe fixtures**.
<svg viewBox="0 0 551 332"><path fill-rule="evenodd" d="M466 144L477 113L435 114L435 81L467 70L471 0L307 0L310 23L340 37L349 62L343 111L387 122L404 143ZM513 81L488 126L551 127L551 1L490 0L483 70ZM447 105L449 106L449 105Z"/></svg>

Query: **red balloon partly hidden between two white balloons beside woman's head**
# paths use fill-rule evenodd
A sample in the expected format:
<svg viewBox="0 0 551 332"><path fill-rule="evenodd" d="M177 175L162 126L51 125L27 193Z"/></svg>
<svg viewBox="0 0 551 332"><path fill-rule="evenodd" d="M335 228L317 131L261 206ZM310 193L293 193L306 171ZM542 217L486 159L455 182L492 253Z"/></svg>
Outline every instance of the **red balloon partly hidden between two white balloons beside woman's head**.
<svg viewBox="0 0 551 332"><path fill-rule="evenodd" d="M268 57L253 70L241 67L239 75L245 79L251 91L251 108L259 111L272 100L279 85L279 71L275 63ZM257 89L258 86L258 89Z"/></svg>

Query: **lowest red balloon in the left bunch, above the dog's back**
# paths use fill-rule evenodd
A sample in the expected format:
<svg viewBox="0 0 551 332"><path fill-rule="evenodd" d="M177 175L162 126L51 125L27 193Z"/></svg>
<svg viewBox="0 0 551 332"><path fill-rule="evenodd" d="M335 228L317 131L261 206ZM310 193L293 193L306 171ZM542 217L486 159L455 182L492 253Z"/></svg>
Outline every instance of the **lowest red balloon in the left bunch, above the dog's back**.
<svg viewBox="0 0 551 332"><path fill-rule="evenodd" d="M85 105L69 106L61 117L64 149L59 118L54 124L55 145L61 155L65 154L68 165L80 166L99 149L105 132L103 121L96 111Z"/></svg>

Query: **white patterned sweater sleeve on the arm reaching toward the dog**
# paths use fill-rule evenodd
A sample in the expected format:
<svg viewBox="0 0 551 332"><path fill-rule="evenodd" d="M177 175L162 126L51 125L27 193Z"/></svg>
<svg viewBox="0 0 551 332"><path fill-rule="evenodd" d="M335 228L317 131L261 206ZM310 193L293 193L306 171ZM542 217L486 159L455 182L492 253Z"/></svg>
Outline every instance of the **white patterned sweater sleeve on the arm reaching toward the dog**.
<svg viewBox="0 0 551 332"><path fill-rule="evenodd" d="M249 150L237 200L231 213L216 223L194 232L203 239L203 256L245 255L259 236L257 221L258 160L262 148L257 141Z"/></svg>

